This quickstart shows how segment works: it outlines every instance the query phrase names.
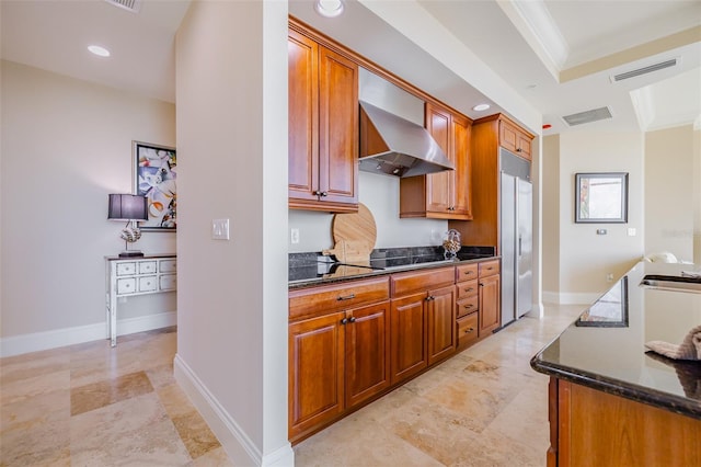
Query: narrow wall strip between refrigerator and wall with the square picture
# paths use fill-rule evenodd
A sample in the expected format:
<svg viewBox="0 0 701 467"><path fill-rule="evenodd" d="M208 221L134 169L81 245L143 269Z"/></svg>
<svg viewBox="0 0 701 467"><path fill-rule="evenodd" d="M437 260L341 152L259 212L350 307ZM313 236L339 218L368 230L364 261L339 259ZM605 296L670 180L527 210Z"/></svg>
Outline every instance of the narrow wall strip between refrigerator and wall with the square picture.
<svg viewBox="0 0 701 467"><path fill-rule="evenodd" d="M542 289L545 301L558 301L553 294L560 291L560 135L542 141Z"/></svg>

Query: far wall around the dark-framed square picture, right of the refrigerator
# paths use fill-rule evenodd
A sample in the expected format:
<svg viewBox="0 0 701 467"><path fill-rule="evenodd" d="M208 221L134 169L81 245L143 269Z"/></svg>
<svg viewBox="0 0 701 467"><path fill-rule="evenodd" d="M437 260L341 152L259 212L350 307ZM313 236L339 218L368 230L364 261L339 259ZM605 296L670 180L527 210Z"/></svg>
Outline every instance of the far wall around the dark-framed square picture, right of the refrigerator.
<svg viewBox="0 0 701 467"><path fill-rule="evenodd" d="M560 300L588 304L643 255L643 133L575 132L560 135ZM628 172L628 224L575 224L577 172ZM598 228L607 235L597 235ZM635 228L634 237L628 228Z"/></svg>

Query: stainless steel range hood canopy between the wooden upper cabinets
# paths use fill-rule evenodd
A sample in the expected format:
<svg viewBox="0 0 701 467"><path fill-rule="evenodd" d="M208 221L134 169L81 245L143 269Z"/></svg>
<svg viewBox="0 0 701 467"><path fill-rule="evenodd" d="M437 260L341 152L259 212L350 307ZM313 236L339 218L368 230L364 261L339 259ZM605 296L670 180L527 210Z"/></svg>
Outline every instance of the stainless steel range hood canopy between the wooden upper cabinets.
<svg viewBox="0 0 701 467"><path fill-rule="evenodd" d="M455 170L426 128L364 101L359 160L360 170L397 176Z"/></svg>

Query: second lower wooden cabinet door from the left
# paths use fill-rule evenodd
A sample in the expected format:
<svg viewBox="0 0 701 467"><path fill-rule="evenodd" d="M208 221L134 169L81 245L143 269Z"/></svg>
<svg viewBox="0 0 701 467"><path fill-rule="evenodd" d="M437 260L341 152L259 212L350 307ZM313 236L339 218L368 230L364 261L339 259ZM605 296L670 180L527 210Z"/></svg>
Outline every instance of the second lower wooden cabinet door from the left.
<svg viewBox="0 0 701 467"><path fill-rule="evenodd" d="M346 407L390 386L390 303L354 309L345 326Z"/></svg>

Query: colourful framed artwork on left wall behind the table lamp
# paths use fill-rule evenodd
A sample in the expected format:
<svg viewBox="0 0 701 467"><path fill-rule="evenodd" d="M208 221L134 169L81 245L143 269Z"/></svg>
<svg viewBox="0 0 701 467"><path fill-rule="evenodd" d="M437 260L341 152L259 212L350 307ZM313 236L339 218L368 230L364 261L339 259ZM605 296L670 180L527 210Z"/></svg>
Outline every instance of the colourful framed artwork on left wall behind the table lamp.
<svg viewBox="0 0 701 467"><path fill-rule="evenodd" d="M139 223L147 231L177 228L177 160L175 148L133 141L134 194L146 196L149 219Z"/></svg>

